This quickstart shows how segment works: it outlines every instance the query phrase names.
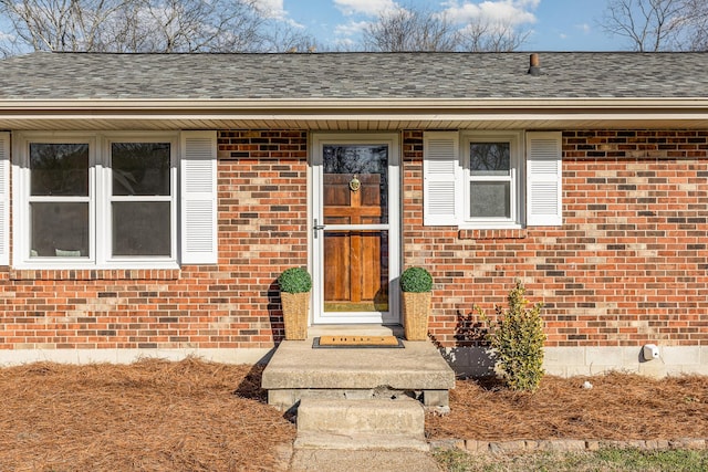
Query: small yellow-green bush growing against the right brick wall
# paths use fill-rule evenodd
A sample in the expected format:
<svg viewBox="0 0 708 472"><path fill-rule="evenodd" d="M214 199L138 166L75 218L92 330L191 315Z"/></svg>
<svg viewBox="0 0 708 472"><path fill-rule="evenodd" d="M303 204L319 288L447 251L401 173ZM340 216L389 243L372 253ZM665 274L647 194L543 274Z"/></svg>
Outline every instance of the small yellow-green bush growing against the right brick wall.
<svg viewBox="0 0 708 472"><path fill-rule="evenodd" d="M497 366L512 390L534 391L543 377L543 303L529 307L525 287L520 281L507 296L508 307L496 306L497 321L489 323L489 340ZM485 312L477 307L481 317Z"/></svg>

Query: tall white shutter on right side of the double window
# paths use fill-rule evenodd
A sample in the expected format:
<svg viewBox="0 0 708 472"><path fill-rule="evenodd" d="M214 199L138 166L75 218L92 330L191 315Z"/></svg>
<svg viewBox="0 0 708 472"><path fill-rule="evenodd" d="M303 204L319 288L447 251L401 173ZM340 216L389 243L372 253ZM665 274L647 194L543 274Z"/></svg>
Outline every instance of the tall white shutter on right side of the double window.
<svg viewBox="0 0 708 472"><path fill-rule="evenodd" d="M183 264L216 264L217 134L183 132L180 244Z"/></svg>

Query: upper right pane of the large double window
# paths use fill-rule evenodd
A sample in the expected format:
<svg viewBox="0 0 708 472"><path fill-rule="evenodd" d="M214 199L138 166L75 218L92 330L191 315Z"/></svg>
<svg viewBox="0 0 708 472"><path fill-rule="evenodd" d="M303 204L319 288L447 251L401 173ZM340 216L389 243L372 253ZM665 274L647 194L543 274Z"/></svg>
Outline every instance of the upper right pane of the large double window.
<svg viewBox="0 0 708 472"><path fill-rule="evenodd" d="M169 143L113 143L113 195L169 195Z"/></svg>

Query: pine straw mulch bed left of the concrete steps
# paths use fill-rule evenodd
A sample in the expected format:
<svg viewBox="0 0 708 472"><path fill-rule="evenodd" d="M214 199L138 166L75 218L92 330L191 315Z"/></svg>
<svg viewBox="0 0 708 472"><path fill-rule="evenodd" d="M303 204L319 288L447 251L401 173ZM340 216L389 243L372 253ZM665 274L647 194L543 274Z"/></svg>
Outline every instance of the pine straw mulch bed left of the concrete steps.
<svg viewBox="0 0 708 472"><path fill-rule="evenodd" d="M259 367L142 360L0 369L2 471L272 470L292 423Z"/></svg>

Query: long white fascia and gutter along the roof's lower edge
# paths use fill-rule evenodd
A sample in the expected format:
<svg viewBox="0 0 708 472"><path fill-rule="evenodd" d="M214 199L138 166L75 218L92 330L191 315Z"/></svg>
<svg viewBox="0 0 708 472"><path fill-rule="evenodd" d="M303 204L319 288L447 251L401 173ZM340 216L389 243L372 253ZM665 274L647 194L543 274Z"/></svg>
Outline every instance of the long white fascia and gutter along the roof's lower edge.
<svg viewBox="0 0 708 472"><path fill-rule="evenodd" d="M226 120L425 122L428 128L436 123L702 123L708 120L708 98L0 101L0 127L2 123L44 126L41 122L56 119L116 126L185 120L215 126Z"/></svg>

